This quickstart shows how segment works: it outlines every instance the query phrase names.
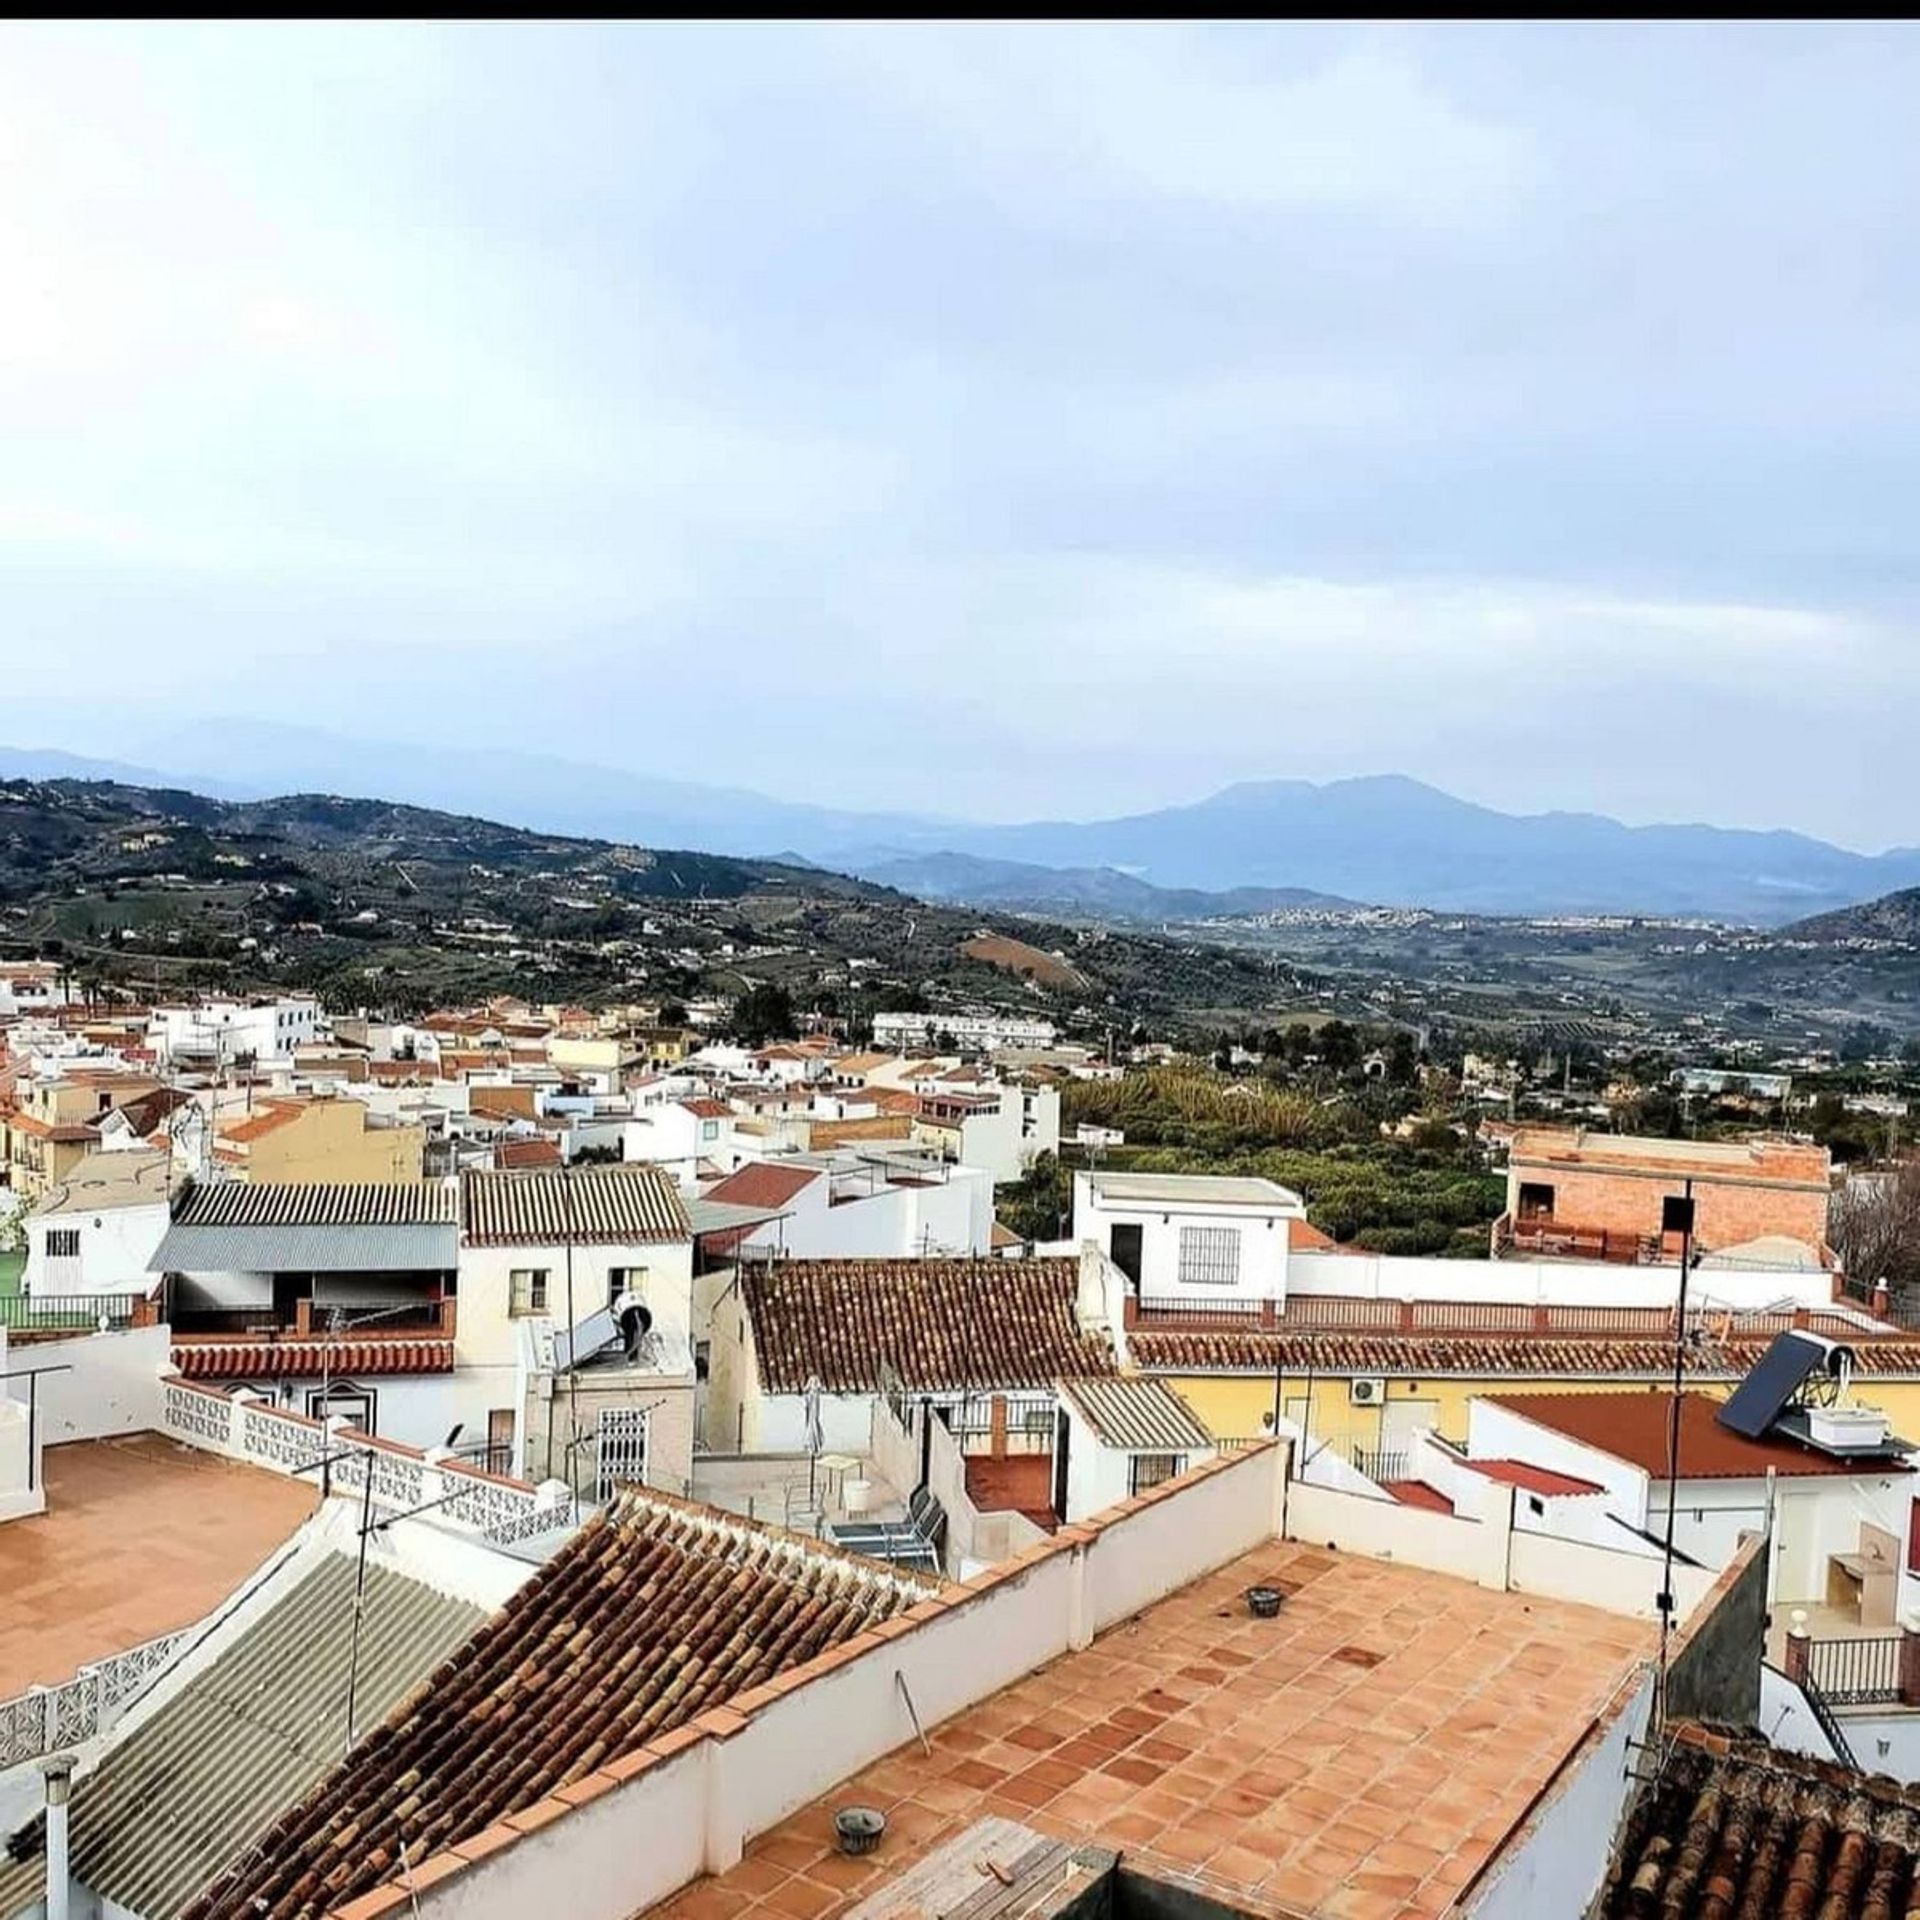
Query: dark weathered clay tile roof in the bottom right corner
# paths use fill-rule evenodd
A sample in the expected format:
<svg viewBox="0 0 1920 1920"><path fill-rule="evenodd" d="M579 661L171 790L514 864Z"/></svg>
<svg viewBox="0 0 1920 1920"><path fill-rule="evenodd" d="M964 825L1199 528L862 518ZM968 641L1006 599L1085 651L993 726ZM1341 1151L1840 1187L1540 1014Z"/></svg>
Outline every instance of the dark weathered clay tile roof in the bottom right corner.
<svg viewBox="0 0 1920 1920"><path fill-rule="evenodd" d="M1887 1914L1920 1893L1920 1791L1680 1726L1628 1816L1601 1920Z"/></svg>

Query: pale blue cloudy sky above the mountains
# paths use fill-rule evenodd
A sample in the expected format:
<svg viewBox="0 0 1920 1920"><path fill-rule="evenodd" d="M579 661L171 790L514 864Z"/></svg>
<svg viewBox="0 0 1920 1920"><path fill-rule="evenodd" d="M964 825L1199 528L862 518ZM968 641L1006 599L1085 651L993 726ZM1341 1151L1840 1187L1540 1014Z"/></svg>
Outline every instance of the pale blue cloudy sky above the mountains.
<svg viewBox="0 0 1920 1920"><path fill-rule="evenodd" d="M1920 843L1920 33L0 25L0 741Z"/></svg>

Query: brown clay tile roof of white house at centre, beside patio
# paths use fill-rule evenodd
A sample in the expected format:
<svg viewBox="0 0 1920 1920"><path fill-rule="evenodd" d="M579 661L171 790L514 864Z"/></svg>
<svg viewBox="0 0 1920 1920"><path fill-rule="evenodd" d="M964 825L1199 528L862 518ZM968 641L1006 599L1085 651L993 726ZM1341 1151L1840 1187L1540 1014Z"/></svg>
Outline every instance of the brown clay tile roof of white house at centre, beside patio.
<svg viewBox="0 0 1920 1920"><path fill-rule="evenodd" d="M760 1388L866 1394L1052 1386L1114 1371L1073 1311L1077 1260L797 1260L743 1269Z"/></svg>

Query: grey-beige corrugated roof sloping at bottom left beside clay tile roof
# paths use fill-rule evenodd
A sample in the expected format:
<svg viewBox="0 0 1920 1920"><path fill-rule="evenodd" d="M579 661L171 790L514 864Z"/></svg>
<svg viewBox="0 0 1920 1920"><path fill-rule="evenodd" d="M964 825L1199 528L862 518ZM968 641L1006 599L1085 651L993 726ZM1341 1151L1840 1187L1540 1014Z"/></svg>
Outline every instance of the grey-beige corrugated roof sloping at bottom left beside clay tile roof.
<svg viewBox="0 0 1920 1920"><path fill-rule="evenodd" d="M317 1788L346 1747L353 1561L328 1553L175 1699L73 1788L73 1874L142 1916L196 1895ZM486 1619L367 1569L355 1718L372 1732ZM0 1914L44 1889L40 1859L0 1857Z"/></svg>

